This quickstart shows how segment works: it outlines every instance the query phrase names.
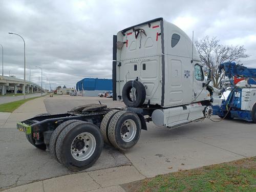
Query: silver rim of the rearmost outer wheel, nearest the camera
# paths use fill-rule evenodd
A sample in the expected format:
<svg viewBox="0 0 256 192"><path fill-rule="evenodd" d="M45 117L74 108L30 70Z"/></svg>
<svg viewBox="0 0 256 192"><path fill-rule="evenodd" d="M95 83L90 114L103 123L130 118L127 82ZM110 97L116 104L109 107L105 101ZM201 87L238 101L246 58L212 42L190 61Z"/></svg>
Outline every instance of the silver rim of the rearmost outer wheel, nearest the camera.
<svg viewBox="0 0 256 192"><path fill-rule="evenodd" d="M80 133L71 144L71 154L77 161L84 161L92 156L96 148L95 137L88 132Z"/></svg>

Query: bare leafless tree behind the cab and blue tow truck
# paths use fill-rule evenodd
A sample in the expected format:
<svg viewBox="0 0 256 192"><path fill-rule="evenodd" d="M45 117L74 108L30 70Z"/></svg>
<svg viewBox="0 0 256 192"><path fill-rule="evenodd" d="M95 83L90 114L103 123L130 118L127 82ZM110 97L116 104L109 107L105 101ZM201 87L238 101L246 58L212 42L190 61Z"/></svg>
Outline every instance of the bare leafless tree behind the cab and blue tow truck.
<svg viewBox="0 0 256 192"><path fill-rule="evenodd" d="M244 46L220 45L217 37L203 37L195 42L199 57L206 68L212 71L212 83L214 87L220 86L223 74L219 73L218 66L223 62L240 62L241 58L247 58Z"/></svg>

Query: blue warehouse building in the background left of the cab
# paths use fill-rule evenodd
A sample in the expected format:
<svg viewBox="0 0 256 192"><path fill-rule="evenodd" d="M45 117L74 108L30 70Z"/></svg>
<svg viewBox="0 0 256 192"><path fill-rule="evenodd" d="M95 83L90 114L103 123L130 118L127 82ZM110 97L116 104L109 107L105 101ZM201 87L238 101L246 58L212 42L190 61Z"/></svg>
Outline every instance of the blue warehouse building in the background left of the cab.
<svg viewBox="0 0 256 192"><path fill-rule="evenodd" d="M113 90L112 79L84 78L76 83L76 90L83 96L98 96Z"/></svg>

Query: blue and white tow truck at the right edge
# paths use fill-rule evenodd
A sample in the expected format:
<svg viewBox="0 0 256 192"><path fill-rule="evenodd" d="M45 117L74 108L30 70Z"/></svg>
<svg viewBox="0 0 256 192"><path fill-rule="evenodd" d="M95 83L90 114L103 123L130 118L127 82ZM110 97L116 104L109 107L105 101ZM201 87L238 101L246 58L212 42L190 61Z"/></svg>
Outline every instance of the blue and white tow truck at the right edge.
<svg viewBox="0 0 256 192"><path fill-rule="evenodd" d="M213 108L214 115L221 118L239 118L256 123L256 69L237 65L235 62L225 62L219 66L219 72L224 74L231 83L231 92L221 106ZM245 80L234 84L233 77Z"/></svg>

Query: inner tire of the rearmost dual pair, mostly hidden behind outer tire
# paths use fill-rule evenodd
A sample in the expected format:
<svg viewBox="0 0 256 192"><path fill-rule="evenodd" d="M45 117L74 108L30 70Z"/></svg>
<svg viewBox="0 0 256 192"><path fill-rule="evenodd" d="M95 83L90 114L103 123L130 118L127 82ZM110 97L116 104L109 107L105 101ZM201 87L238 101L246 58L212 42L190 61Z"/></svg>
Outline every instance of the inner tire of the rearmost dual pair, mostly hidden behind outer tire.
<svg viewBox="0 0 256 192"><path fill-rule="evenodd" d="M55 151L55 145L56 145L56 142L57 142L57 139L59 137L59 134L62 132L63 129L65 129L66 126L68 126L69 124L73 123L73 122L77 122L79 120L68 120L68 121L65 121L63 123L61 123L59 126L56 127L56 129L54 130L54 132L52 133L51 135L51 138L50 138L50 143L49 143L49 150L50 150L50 154L52 155L52 157L54 159L56 159L58 161L58 158L56 156L56 151Z"/></svg>

